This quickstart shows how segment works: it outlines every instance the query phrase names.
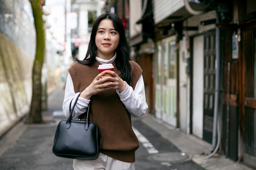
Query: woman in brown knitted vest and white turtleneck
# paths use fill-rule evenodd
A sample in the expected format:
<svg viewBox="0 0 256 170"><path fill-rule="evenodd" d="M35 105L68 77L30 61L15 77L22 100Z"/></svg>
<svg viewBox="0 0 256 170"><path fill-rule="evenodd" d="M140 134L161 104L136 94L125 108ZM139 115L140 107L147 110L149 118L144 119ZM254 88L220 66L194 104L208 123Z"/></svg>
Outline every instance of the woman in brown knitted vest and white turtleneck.
<svg viewBox="0 0 256 170"><path fill-rule="evenodd" d="M77 61L68 69L63 111L68 117L70 101L81 92L72 117L85 119L83 113L90 103L90 121L97 124L102 141L99 158L74 159L74 170L135 170L139 142L132 130L131 115L144 115L148 105L142 69L130 61L124 26L116 14L97 18L85 58ZM114 71L99 73L99 64L107 63L115 66Z"/></svg>

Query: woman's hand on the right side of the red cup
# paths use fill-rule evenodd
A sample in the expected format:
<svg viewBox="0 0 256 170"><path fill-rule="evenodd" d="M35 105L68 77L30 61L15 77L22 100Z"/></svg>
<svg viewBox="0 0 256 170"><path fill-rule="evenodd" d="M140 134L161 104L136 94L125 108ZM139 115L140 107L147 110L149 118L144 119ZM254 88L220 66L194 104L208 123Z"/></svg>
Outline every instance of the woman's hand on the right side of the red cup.
<svg viewBox="0 0 256 170"><path fill-rule="evenodd" d="M112 87L112 89L119 90L119 92L122 93L126 88L126 82L124 82L124 80L121 79L119 75L117 75L114 71L106 70L105 72L106 74L112 75L112 77L108 76L108 80L111 81L110 86ZM107 77L107 76L102 76L102 78L103 77Z"/></svg>

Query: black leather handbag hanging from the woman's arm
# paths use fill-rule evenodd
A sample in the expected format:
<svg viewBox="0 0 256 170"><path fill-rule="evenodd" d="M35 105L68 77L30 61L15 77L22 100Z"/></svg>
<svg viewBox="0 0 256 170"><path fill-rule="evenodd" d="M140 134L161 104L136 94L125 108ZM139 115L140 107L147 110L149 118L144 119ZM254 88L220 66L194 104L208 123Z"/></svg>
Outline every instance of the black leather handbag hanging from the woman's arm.
<svg viewBox="0 0 256 170"><path fill-rule="evenodd" d="M79 95L75 100L74 106ZM87 119L85 121L72 120L74 106L70 109L68 119L60 121L57 126L52 152L56 156L64 158L97 159L101 148L101 136L97 125L89 119L89 106L86 111Z"/></svg>

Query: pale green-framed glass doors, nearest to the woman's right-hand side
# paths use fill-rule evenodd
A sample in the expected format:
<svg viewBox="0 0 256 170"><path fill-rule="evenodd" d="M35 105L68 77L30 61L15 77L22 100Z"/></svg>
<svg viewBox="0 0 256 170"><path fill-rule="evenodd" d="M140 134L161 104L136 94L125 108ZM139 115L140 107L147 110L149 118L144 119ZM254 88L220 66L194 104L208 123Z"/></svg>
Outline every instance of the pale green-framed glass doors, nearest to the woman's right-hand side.
<svg viewBox="0 0 256 170"><path fill-rule="evenodd" d="M176 127L177 55L175 36L156 43L156 117Z"/></svg>

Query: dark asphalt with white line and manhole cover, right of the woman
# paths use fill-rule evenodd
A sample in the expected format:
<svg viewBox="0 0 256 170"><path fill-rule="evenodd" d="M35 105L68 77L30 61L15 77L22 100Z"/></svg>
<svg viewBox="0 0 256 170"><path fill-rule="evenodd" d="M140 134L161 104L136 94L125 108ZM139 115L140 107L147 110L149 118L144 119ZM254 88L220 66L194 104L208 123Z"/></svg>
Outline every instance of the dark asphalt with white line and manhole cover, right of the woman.
<svg viewBox="0 0 256 170"><path fill-rule="evenodd" d="M136 130L140 133L137 135L140 147L136 151L136 170L204 170L191 161L193 155L181 152L139 119L132 119L132 125L135 133Z"/></svg>

